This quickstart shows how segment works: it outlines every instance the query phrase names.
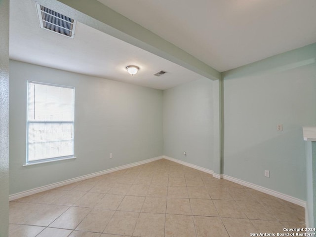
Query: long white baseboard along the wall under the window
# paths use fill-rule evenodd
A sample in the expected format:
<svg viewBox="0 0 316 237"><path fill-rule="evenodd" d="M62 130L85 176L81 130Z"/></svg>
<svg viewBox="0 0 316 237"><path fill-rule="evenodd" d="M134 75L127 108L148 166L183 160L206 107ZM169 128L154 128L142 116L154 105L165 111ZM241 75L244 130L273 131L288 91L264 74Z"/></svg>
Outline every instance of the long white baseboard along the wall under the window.
<svg viewBox="0 0 316 237"><path fill-rule="evenodd" d="M23 191L23 192L20 192L20 193L17 193L17 194L12 194L12 195L9 195L9 201L12 201L12 200L15 200L15 199L18 199L18 198L21 198L21 197L26 197L26 196L29 196L29 195L37 194L37 193L40 193L40 192L43 192L43 191L47 191L47 190L50 190L50 189L55 189L55 188L58 188L58 187L61 187L61 186L67 185L67 184L72 184L72 183L75 183L75 182L78 182L78 181L82 181L82 180L85 180L85 179L94 178L94 177L97 177L99 175L112 173L112 172L115 172L115 171L118 171L118 170L121 170L121 169L127 169L127 168L131 168L131 167L138 166L138 165L141 165L141 164L146 164L146 163L149 163L149 162L152 162L152 161L155 161L155 160L158 160L158 159L162 159L162 158L163 158L163 156L150 158L150 159L145 159L145 160L141 160L141 161L138 161L138 162L135 162L135 163L121 165L121 166L118 166L118 167L115 167L115 168L102 170L102 171L95 172L95 173L92 173L92 174L87 174L87 175L79 176L77 178L68 179L68 180L65 180L65 181L58 182L58 183L45 185L45 186L42 186L42 187L39 187L39 188Z"/></svg>

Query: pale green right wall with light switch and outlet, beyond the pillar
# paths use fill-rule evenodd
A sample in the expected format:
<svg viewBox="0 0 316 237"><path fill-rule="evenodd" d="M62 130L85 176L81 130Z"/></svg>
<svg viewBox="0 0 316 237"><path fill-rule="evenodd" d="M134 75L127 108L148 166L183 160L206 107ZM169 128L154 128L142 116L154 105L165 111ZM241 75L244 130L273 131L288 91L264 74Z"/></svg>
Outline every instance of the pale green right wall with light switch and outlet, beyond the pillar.
<svg viewBox="0 0 316 237"><path fill-rule="evenodd" d="M315 57L312 44L223 73L224 174L306 200L302 126L316 125Z"/></svg>

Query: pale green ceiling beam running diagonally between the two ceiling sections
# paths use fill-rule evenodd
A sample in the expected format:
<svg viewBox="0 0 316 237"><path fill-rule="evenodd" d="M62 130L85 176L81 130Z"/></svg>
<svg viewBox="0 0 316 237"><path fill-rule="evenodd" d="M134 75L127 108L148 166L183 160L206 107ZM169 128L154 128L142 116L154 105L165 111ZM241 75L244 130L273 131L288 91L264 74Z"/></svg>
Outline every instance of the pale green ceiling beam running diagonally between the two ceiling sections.
<svg viewBox="0 0 316 237"><path fill-rule="evenodd" d="M221 74L214 68L97 0L36 0L36 2L203 77L212 80L221 78Z"/></svg>

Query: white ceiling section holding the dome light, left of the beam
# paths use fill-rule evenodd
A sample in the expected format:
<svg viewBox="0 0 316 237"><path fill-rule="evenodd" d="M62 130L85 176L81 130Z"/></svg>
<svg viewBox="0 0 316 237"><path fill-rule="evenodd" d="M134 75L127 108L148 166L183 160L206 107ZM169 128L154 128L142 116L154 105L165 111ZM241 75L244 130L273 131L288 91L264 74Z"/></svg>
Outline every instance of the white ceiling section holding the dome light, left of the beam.
<svg viewBox="0 0 316 237"><path fill-rule="evenodd" d="M41 29L33 0L10 0L10 58L156 89L202 78L79 22L74 39ZM139 72L129 75L128 65L137 65ZM167 73L154 76L160 70Z"/></svg>

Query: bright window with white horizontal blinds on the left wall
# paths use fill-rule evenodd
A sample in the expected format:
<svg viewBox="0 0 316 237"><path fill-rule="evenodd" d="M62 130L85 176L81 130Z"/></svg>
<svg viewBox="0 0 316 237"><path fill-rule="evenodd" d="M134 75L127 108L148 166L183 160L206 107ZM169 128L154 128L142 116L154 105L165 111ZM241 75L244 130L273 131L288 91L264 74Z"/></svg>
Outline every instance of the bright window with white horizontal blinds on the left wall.
<svg viewBox="0 0 316 237"><path fill-rule="evenodd" d="M27 164L74 157L75 88L28 81Z"/></svg>

